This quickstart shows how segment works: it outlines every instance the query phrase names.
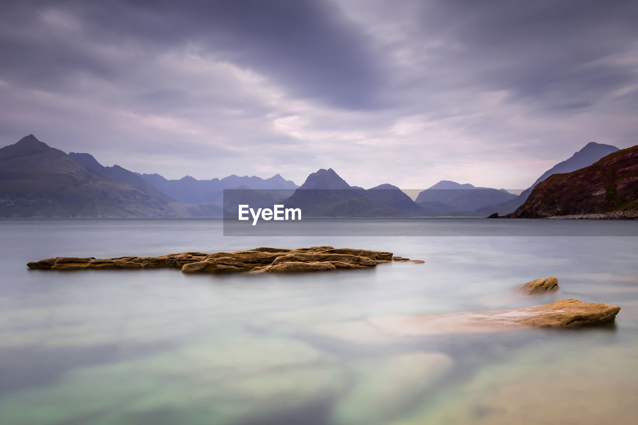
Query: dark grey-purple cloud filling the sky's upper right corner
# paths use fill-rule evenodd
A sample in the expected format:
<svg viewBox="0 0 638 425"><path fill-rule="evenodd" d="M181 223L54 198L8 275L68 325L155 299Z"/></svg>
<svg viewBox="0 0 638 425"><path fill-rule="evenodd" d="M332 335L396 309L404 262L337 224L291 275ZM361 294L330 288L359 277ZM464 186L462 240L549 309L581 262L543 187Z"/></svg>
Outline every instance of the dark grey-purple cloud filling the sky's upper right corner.
<svg viewBox="0 0 638 425"><path fill-rule="evenodd" d="M635 62L618 60L636 52L634 1L433 1L420 24L424 38L445 40L428 64L547 108L586 107L637 82Z"/></svg>

